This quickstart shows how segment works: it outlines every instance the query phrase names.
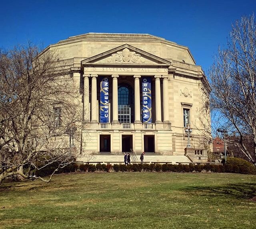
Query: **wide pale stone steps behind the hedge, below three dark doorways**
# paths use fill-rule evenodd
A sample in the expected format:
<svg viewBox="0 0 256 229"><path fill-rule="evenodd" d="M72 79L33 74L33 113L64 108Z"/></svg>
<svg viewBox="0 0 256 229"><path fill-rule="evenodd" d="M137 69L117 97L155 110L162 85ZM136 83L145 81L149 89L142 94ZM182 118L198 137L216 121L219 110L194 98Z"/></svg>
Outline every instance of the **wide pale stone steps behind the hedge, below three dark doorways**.
<svg viewBox="0 0 256 229"><path fill-rule="evenodd" d="M137 155L138 162L140 162L140 155ZM131 158L132 159L132 158ZM79 158L79 162L88 162L88 158ZM94 155L92 158L89 159L89 162L91 163L96 163L96 162L101 162L101 163L112 163L112 164L117 164L124 162L124 155ZM131 160L132 162L132 160ZM170 156L170 155L144 155L144 162L172 162L172 164L176 164L176 162L191 162L186 156Z"/></svg>

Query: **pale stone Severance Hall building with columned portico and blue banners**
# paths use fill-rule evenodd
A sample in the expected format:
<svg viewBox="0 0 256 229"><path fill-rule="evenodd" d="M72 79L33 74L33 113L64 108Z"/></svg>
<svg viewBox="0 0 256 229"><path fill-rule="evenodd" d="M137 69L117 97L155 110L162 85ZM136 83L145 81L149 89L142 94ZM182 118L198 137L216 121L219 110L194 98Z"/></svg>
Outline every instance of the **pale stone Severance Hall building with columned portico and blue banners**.
<svg viewBox="0 0 256 229"><path fill-rule="evenodd" d="M86 152L184 155L203 148L207 81L188 47L149 34L89 33L50 45L80 87Z"/></svg>

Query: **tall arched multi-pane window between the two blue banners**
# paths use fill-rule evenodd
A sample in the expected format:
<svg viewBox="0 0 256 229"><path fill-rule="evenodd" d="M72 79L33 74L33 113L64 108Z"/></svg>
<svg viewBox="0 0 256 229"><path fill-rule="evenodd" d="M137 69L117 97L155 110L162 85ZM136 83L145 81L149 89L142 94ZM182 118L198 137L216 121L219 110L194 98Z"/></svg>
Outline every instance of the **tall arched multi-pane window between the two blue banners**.
<svg viewBox="0 0 256 229"><path fill-rule="evenodd" d="M127 83L118 87L118 121L133 122L133 90Z"/></svg>

